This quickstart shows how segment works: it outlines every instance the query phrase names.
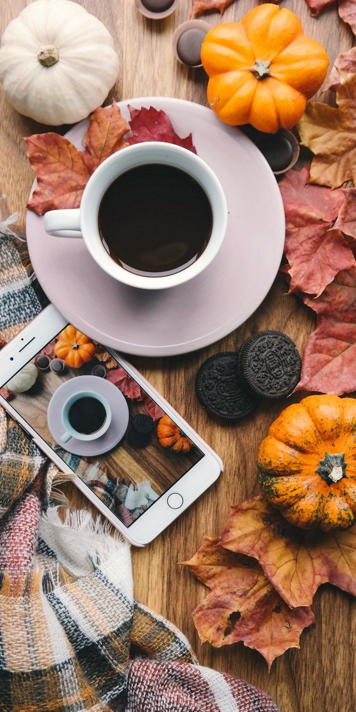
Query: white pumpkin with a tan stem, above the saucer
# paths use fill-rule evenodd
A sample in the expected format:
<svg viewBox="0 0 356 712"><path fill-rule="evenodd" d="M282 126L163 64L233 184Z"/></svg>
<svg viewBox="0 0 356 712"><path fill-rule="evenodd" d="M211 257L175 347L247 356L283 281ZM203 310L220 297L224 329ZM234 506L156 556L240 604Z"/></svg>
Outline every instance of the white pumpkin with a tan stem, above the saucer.
<svg viewBox="0 0 356 712"><path fill-rule="evenodd" d="M1 38L6 96L17 111L43 124L88 116L115 84L118 66L106 27L70 0L35 0Z"/></svg>

